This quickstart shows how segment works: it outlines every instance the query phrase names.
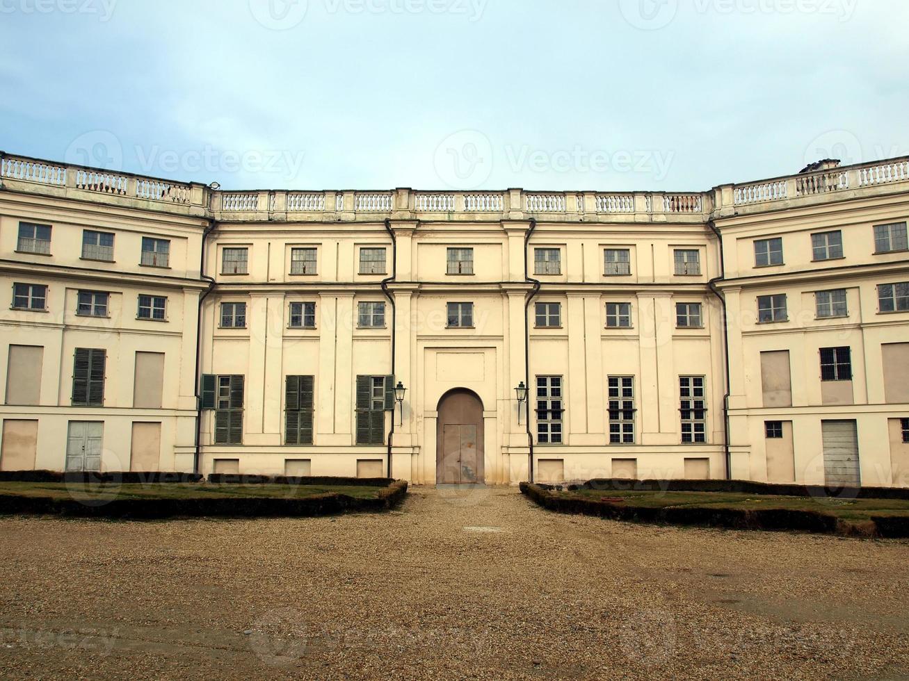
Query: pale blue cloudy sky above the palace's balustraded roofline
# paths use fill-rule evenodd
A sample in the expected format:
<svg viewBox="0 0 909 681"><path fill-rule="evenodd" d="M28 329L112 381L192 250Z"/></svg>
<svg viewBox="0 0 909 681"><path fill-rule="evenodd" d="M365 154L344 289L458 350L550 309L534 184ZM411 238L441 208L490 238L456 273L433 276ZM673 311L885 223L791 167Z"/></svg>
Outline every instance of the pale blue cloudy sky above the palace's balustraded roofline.
<svg viewBox="0 0 909 681"><path fill-rule="evenodd" d="M906 0L0 0L0 149L225 189L704 190L909 154Z"/></svg>

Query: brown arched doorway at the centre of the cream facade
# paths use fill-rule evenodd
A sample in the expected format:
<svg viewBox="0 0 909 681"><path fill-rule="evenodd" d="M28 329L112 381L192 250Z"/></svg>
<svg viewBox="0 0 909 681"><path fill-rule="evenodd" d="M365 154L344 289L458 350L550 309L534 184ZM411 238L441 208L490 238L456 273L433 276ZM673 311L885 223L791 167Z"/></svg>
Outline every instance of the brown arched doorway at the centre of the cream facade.
<svg viewBox="0 0 909 681"><path fill-rule="evenodd" d="M483 402L470 390L450 390L439 400L435 481L462 485L484 481Z"/></svg>

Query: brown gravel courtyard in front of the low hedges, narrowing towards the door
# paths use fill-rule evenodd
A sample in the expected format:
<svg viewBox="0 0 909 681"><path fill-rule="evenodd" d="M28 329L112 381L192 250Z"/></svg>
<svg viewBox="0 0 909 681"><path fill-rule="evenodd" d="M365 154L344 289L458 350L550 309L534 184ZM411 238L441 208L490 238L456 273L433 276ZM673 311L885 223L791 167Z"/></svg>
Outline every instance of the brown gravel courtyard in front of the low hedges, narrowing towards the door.
<svg viewBox="0 0 909 681"><path fill-rule="evenodd" d="M909 542L386 515L0 518L10 678L909 678Z"/></svg>

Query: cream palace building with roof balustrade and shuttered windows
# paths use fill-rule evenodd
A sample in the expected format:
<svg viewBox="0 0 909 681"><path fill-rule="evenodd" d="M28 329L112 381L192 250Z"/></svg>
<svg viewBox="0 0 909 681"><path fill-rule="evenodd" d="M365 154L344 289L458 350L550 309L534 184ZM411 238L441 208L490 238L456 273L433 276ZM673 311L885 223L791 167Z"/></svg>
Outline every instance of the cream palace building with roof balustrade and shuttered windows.
<svg viewBox="0 0 909 681"><path fill-rule="evenodd" d="M3 153L0 469L907 487L907 220L907 158L233 192Z"/></svg>

